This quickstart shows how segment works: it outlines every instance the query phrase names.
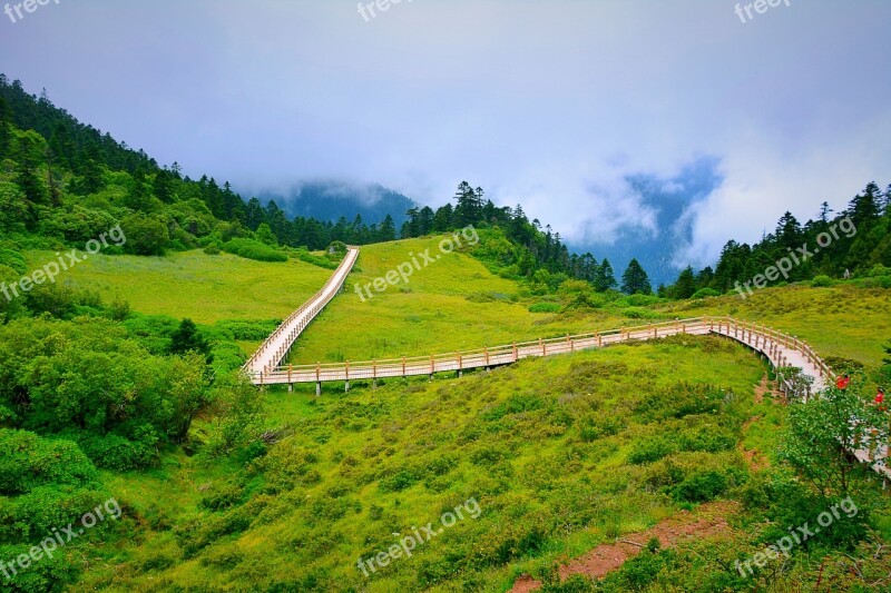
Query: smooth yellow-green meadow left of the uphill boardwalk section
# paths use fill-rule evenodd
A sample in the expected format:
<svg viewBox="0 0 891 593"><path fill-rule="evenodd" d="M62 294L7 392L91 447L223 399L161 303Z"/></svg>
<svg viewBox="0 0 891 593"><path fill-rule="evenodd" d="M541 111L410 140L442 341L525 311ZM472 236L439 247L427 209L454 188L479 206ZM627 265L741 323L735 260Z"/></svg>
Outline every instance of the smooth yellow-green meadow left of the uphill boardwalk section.
<svg viewBox="0 0 891 593"><path fill-rule="evenodd" d="M51 251L25 255L31 269L56 258ZM186 251L163 257L95 255L61 279L76 288L96 290L106 302L123 298L146 315L210 324L287 317L330 276L329 269L294 259L263 263Z"/></svg>

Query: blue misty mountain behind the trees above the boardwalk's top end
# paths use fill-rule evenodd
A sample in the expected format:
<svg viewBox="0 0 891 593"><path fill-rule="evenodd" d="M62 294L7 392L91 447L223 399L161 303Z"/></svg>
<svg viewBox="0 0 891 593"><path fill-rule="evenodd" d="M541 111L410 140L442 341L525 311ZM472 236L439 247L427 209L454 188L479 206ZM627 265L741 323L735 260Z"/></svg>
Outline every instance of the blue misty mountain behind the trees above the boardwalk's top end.
<svg viewBox="0 0 891 593"><path fill-rule="evenodd" d="M275 204L290 218L301 216L336 223L340 217L352 221L361 215L368 225L380 224L386 215L393 217L396 228L407 220L405 211L417 204L409 197L380 185L350 185L337 181L304 182L288 192L264 191L257 198Z"/></svg>

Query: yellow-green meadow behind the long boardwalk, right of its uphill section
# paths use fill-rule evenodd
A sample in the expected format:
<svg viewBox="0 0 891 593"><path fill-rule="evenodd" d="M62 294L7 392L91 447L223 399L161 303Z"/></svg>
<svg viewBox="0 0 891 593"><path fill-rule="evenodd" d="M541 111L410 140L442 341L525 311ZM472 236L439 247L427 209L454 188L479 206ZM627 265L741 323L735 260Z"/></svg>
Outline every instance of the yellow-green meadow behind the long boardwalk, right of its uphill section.
<svg viewBox="0 0 891 593"><path fill-rule="evenodd" d="M409 261L410 254L428 248L437 254L438 243L435 237L363 247L346 290L303 335L292 362L422 356L705 315L765 323L809 340L824 356L868 365L881 362L882 345L891 336L889 290L853 283L768 288L745 300L736 296L682 302L599 296L593 306L572 307L565 297L536 297L521 285L495 276L474 258L451 254L415 270L408 283L380 294L372 288L373 298L365 296L365 302L354 291L354 284L364 286L384 276ZM557 312L530 313L530 306L542 300ZM634 306L637 302L648 306Z"/></svg>

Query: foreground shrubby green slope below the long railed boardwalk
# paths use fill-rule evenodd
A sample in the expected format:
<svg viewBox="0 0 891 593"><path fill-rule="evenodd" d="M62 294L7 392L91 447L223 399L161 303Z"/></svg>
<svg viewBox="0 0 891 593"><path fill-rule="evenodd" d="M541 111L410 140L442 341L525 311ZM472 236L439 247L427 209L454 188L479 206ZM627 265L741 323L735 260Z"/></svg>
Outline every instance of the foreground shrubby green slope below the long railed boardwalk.
<svg viewBox="0 0 891 593"><path fill-rule="evenodd" d="M505 590L674 514L703 472L741 483L744 421L775 414L752 397L763 372L741 347L686 338L346 398L273 393L270 413L293 435L245 468L176 457L107 476L139 535L77 590ZM687 444L665 454L659 434ZM360 555L470 497L478 520L368 580L359 571Z"/></svg>

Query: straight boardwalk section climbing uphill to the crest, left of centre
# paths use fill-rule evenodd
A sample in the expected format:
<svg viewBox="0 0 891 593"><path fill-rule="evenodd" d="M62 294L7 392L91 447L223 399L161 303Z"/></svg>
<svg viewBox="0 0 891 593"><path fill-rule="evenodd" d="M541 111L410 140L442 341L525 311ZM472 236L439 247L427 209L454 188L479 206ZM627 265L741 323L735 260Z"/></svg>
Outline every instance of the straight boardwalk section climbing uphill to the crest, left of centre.
<svg viewBox="0 0 891 593"><path fill-rule="evenodd" d="M325 283L325 286L304 303L301 308L292 313L287 319L282 322L282 325L247 359L243 369L255 385L264 384L264 377L273 373L282 364L297 337L315 319L316 315L325 308L325 305L331 303L331 299L340 293L358 257L359 249L350 247L343 261L334 270L334 275ZM268 380L265 383L268 383Z"/></svg>

